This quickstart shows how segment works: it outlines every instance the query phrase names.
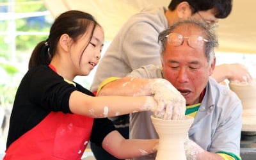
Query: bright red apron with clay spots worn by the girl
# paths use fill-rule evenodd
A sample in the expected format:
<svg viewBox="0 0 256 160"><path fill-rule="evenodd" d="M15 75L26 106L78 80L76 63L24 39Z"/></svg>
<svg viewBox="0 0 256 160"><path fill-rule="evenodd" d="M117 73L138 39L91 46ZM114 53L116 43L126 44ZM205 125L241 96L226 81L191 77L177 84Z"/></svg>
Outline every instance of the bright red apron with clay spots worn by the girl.
<svg viewBox="0 0 256 160"><path fill-rule="evenodd" d="M90 117L51 112L8 147L4 160L81 159L92 125Z"/></svg>

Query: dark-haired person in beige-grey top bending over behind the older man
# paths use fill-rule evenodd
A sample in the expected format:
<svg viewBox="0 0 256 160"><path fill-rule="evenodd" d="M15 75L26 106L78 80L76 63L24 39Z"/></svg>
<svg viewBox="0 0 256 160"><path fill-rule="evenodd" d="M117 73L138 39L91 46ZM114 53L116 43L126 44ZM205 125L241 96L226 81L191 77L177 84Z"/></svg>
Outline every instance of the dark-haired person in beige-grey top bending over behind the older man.
<svg viewBox="0 0 256 160"><path fill-rule="evenodd" d="M218 19L225 19L232 10L232 0L172 0L168 8L164 6L148 6L140 13L133 15L117 33L100 60L95 72L92 92L97 91L104 79L126 74L142 65L161 65L160 49L157 37L173 22L189 17L202 20L212 26ZM212 77L218 83L225 79L229 81L247 81L252 79L248 68L239 63L218 65L214 68ZM111 118L118 131L129 138L129 115ZM104 160L108 155L102 148L91 145L93 154L98 160ZM111 160L111 156L109 156ZM112 159L115 159L112 157Z"/></svg>

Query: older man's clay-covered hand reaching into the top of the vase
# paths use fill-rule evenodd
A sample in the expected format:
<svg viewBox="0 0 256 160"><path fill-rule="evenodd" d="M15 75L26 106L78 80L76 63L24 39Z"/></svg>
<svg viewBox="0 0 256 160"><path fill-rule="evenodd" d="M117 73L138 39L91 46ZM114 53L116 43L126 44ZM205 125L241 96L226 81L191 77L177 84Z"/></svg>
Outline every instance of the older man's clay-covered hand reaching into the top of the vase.
<svg viewBox="0 0 256 160"><path fill-rule="evenodd" d="M152 109L157 118L184 120L186 100L169 81L166 79L152 79L150 89L157 102L157 107Z"/></svg>

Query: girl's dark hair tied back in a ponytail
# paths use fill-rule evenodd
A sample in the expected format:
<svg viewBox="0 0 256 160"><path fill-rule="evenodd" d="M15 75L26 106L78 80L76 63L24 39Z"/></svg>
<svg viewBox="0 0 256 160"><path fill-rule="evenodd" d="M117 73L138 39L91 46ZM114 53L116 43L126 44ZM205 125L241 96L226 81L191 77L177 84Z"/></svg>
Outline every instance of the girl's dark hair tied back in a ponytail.
<svg viewBox="0 0 256 160"><path fill-rule="evenodd" d="M61 35L67 34L76 41L80 35L83 35L88 31L88 28L92 27L90 32L90 38L92 38L96 26L100 25L89 13L78 10L61 13L52 24L48 39L36 45L31 54L28 68L38 65L49 65Z"/></svg>

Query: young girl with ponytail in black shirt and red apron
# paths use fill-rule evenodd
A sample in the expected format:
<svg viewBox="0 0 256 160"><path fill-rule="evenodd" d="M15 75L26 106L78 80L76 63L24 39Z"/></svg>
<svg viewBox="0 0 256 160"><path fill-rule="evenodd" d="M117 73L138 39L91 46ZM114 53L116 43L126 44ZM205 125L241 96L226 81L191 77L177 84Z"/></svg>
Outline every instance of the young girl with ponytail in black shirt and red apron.
<svg viewBox="0 0 256 160"><path fill-rule="evenodd" d="M89 140L122 159L156 151L157 140L124 140L106 118L154 111L153 97L93 97L73 81L97 65L103 41L88 13L68 11L55 20L17 90L4 159L81 159Z"/></svg>

